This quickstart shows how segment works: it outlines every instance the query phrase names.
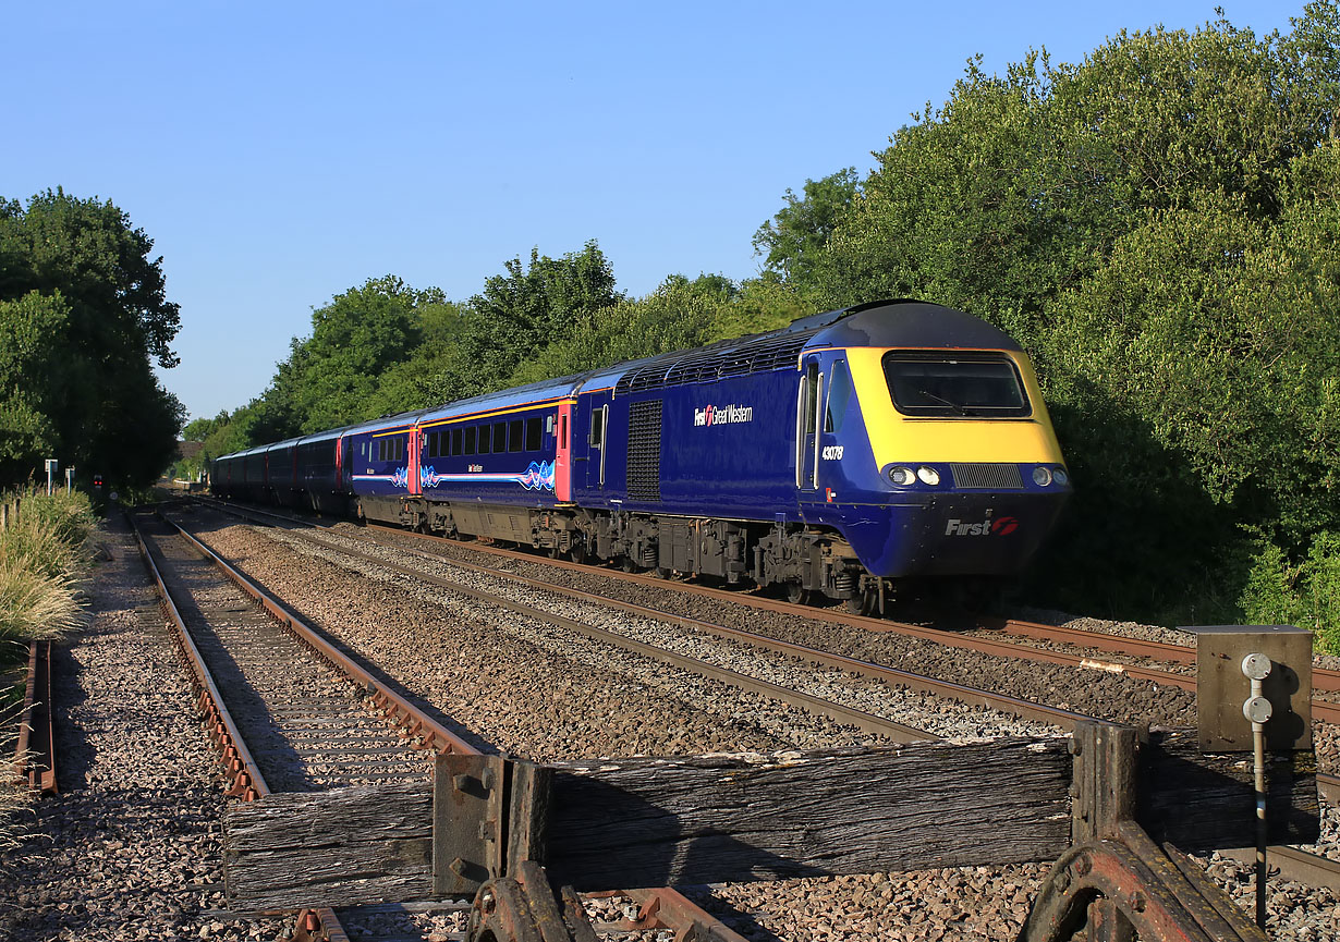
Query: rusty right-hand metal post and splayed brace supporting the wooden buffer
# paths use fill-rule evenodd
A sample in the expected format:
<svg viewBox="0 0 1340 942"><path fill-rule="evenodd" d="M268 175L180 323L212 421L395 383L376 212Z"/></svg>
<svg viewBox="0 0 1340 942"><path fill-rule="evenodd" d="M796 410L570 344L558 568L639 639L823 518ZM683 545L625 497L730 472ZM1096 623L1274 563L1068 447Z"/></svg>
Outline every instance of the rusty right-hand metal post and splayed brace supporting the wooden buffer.
<svg viewBox="0 0 1340 942"><path fill-rule="evenodd" d="M1085 925L1091 942L1265 942L1193 860L1135 823L1138 736L1108 724L1075 729L1073 846L1038 891L1021 942L1061 942Z"/></svg>

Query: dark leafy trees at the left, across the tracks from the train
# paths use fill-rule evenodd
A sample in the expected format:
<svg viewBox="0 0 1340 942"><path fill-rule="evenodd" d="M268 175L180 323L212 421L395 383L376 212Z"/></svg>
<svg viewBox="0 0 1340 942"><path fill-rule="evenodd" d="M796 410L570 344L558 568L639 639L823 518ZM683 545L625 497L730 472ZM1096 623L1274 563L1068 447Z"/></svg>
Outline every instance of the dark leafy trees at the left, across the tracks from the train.
<svg viewBox="0 0 1340 942"><path fill-rule="evenodd" d="M110 201L63 190L0 200L0 480L42 460L141 486L168 468L182 407L180 328L153 241Z"/></svg>

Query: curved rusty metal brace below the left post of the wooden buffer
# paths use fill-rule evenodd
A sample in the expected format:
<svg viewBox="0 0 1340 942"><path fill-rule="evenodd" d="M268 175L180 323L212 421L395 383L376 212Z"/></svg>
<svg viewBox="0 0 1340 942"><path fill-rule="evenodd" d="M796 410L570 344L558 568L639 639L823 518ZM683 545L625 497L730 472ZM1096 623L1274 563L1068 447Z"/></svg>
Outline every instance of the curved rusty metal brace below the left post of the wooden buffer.
<svg viewBox="0 0 1340 942"><path fill-rule="evenodd" d="M521 862L513 876L480 887L470 907L466 938L469 942L596 942L572 887L555 895L544 867L533 860Z"/></svg>

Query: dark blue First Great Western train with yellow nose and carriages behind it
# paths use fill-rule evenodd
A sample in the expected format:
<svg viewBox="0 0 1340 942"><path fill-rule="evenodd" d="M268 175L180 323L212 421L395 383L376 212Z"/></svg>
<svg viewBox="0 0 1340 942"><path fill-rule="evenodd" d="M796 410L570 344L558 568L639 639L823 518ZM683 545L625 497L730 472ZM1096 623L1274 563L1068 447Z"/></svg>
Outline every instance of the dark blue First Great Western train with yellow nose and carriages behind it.
<svg viewBox="0 0 1340 942"><path fill-rule="evenodd" d="M263 445L212 485L867 610L1018 571L1071 493L1020 346L911 300Z"/></svg>

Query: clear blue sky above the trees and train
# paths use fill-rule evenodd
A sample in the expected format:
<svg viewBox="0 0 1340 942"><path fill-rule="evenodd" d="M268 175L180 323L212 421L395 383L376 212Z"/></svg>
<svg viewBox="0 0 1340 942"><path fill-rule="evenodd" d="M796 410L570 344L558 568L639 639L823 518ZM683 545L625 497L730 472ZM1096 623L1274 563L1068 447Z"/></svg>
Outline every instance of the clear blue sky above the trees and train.
<svg viewBox="0 0 1340 942"><path fill-rule="evenodd" d="M1302 0L1221 0L1258 35ZM453 300L591 239L634 296L757 273L787 188L871 151L969 56L1079 62L1215 0L5 3L0 196L110 198L181 304L192 417L259 395L311 311L395 273Z"/></svg>

